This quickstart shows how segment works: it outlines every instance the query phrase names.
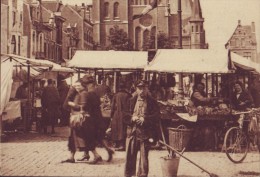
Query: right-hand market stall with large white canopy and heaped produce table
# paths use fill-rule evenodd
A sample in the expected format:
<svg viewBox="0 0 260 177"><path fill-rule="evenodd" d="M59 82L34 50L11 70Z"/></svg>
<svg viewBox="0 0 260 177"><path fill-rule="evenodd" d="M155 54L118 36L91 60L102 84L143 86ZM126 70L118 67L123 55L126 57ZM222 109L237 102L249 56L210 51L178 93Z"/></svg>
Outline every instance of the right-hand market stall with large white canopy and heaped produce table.
<svg viewBox="0 0 260 177"><path fill-rule="evenodd" d="M219 149L224 122L232 116L228 101L231 84L236 79L242 79L248 84L251 71L257 72L257 65L249 60L228 50L208 49L160 49L145 68L149 79L155 73L159 75L157 78L168 73L175 74L178 88L174 90L172 98L159 101L161 118L166 129L181 124L193 129L190 144L193 150ZM248 77L245 77L245 73ZM239 78L239 75L244 77ZM188 84L184 78L188 78ZM199 82L205 84L206 96L214 97L215 101L195 108L190 106L190 96L192 87ZM225 97L220 94L220 83L226 86Z"/></svg>

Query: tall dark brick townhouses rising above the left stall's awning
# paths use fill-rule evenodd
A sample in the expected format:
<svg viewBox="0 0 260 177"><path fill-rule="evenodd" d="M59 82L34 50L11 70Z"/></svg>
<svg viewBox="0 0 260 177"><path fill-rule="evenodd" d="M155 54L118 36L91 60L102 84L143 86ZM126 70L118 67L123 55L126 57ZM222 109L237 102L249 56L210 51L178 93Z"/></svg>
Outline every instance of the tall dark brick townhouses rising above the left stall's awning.
<svg viewBox="0 0 260 177"><path fill-rule="evenodd" d="M23 4L24 35L28 37L27 57L63 62L60 5L55 12L46 9L41 1L27 0Z"/></svg>

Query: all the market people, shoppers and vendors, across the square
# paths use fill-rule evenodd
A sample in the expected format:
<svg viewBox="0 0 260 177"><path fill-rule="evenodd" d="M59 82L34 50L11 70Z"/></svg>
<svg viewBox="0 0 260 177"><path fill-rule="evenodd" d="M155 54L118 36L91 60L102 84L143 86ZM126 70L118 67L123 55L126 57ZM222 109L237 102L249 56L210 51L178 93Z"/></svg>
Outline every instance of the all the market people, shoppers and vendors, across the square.
<svg viewBox="0 0 260 177"><path fill-rule="evenodd" d="M171 82L170 86L174 86L175 81ZM58 87L52 79L47 80L47 86L44 87L44 84L41 82L40 90L44 133L47 133L48 125L51 125L51 133L55 133L57 117L60 118L61 125L70 126L71 129L68 138L71 155L62 163L75 163L75 153L83 151L84 155L77 159L78 161L97 164L103 159L96 151L96 147L102 145L108 153L107 161L112 160L114 150L126 152L125 176L135 176L137 153L140 151L137 175L148 175L149 150L160 137L158 135L160 109L157 100L162 93L156 80L152 80L150 86L147 81L139 80L131 88L128 88L128 83L120 81L118 91L110 97L111 115L108 126L101 110L101 98L107 94L111 95L111 90L106 84L97 85L95 79L88 74L73 86L67 85L64 79L59 80ZM228 95L227 91L224 91L224 86L222 85L220 89L220 96ZM260 106L260 82L257 79L252 82L248 90L240 81L236 81L232 91L228 93L232 93L230 105L235 110L243 111L253 106ZM26 98L26 94L24 84L18 89L17 97ZM202 82L194 85L191 94L193 106L207 106L215 99L206 95L205 85ZM57 110L60 110L60 114ZM75 119L72 120L73 116ZM110 147L107 136L112 140L113 147ZM92 161L89 161L90 152L94 156Z"/></svg>

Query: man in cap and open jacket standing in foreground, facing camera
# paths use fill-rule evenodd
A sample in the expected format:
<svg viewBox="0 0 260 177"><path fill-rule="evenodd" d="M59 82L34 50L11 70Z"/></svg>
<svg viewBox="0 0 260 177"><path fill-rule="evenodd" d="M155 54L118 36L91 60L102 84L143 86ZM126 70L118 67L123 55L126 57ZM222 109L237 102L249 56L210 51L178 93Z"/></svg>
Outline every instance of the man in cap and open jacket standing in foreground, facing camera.
<svg viewBox="0 0 260 177"><path fill-rule="evenodd" d="M148 94L146 81L137 82L136 89L137 94L130 99L131 119L128 123L131 133L127 139L125 176L136 175L136 159L140 151L137 176L147 177L148 153L150 145L156 142L153 132L156 132L155 127L159 121L160 109L157 101Z"/></svg>

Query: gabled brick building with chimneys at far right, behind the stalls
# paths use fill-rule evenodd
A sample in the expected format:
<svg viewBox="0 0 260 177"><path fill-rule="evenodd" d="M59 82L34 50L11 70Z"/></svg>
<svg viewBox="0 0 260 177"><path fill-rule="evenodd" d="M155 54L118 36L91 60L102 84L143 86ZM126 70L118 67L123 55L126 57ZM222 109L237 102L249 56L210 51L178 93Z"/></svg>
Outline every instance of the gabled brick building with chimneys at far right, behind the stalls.
<svg viewBox="0 0 260 177"><path fill-rule="evenodd" d="M257 59L255 23L252 22L251 25L242 25L241 21L238 20L238 25L225 44L225 47L253 62L259 62Z"/></svg>

